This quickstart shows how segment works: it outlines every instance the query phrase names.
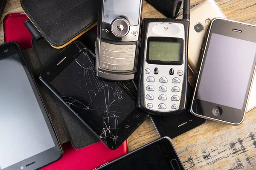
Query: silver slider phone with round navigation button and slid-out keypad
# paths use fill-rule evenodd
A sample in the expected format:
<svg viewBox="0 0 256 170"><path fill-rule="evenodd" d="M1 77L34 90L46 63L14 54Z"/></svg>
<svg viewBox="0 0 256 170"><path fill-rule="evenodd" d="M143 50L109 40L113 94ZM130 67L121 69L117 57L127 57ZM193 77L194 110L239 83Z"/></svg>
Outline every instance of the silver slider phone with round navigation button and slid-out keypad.
<svg viewBox="0 0 256 170"><path fill-rule="evenodd" d="M102 0L96 42L96 76L134 79L143 0Z"/></svg>

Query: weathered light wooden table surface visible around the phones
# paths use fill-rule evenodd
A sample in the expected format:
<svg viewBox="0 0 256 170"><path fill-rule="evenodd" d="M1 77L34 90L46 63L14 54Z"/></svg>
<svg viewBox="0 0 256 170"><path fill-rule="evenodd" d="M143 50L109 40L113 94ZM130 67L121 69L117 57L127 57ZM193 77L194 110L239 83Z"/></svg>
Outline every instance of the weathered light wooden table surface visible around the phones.
<svg viewBox="0 0 256 170"><path fill-rule="evenodd" d="M191 0L191 6L202 1ZM216 2L228 19L256 25L256 0ZM3 17L22 12L20 0L8 0ZM0 44L4 42L3 17L0 21ZM164 16L144 2L145 17ZM192 77L191 74L189 76ZM129 151L158 138L153 123L148 119L128 138ZM204 125L173 139L173 143L187 170L256 170L256 109L246 113L242 125L230 126L208 120Z"/></svg>

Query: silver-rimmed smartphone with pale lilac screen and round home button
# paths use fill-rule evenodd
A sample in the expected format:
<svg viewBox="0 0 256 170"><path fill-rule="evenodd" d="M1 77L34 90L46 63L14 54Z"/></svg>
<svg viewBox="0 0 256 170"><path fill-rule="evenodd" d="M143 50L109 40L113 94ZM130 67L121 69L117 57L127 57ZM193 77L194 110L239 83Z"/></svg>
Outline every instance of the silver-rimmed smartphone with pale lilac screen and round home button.
<svg viewBox="0 0 256 170"><path fill-rule="evenodd" d="M192 114L229 125L243 122L255 75L255 32L254 25L212 20L190 107Z"/></svg>

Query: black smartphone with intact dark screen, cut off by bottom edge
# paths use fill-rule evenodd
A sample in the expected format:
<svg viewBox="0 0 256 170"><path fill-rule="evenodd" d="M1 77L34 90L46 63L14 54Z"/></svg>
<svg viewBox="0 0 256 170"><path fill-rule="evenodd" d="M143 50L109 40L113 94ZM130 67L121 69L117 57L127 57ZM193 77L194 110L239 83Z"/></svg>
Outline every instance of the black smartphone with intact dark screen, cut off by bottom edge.
<svg viewBox="0 0 256 170"><path fill-rule="evenodd" d="M169 137L163 137L97 170L184 170Z"/></svg>

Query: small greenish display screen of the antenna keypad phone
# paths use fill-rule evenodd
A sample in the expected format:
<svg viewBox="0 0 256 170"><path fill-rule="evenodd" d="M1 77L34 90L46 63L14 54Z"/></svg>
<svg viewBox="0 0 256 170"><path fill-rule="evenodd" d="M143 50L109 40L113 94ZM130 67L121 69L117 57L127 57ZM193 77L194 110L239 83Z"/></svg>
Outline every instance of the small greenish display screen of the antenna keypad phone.
<svg viewBox="0 0 256 170"><path fill-rule="evenodd" d="M148 59L163 62L181 61L180 46L180 42L150 41Z"/></svg>

